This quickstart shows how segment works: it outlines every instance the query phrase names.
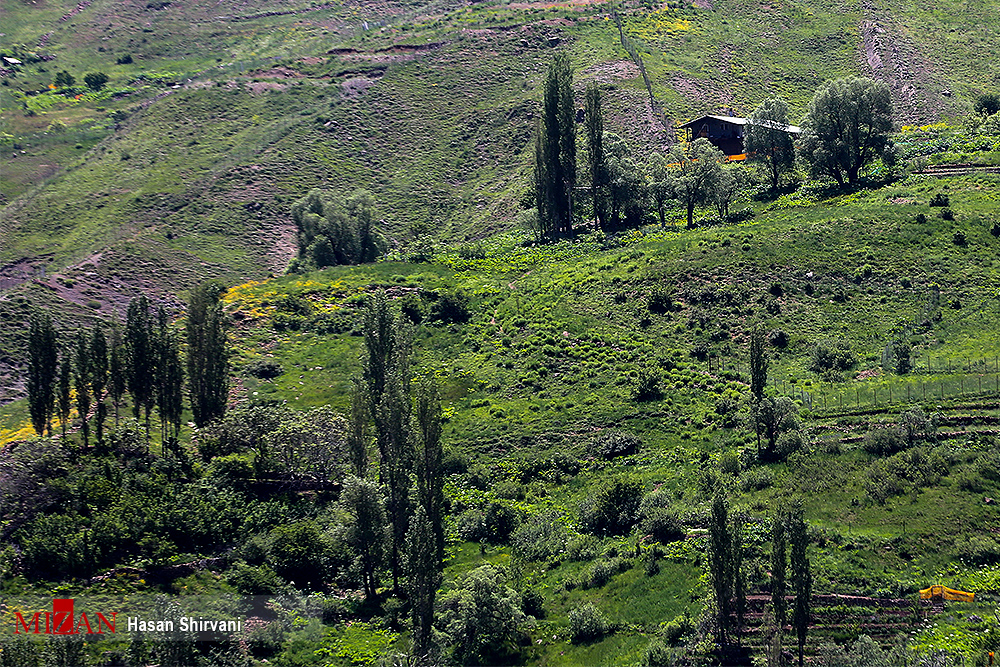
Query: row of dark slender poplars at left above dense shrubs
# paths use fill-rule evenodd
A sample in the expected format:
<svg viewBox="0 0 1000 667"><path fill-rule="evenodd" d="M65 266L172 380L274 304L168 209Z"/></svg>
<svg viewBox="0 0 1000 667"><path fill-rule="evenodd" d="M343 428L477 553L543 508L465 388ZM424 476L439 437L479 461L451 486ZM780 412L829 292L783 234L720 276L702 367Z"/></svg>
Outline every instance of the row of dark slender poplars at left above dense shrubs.
<svg viewBox="0 0 1000 667"><path fill-rule="evenodd" d="M187 387L198 426L224 414L229 393L221 294L221 287L208 283L192 291L188 304ZM51 436L53 417L58 417L65 438L75 407L84 447L90 444L91 426L97 443L103 445L108 416L105 401L114 406L117 427L127 393L133 416L138 420L145 413L147 438L156 408L163 442L176 445L184 411L184 364L178 332L163 306L154 312L141 295L129 303L124 327L113 325L105 333L98 323L78 329L72 342L60 344L60 337L48 313L32 314L27 391L36 433Z"/></svg>

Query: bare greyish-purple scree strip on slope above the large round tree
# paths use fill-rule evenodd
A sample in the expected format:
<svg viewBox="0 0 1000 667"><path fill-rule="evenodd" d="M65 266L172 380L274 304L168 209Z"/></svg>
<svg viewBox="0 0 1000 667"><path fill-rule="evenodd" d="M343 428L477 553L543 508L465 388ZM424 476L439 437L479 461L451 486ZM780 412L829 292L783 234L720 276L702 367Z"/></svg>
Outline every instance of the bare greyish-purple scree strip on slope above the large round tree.
<svg viewBox="0 0 1000 667"><path fill-rule="evenodd" d="M896 119L919 125L941 118L952 104L938 68L876 0L862 0L861 9L862 63L889 85Z"/></svg>

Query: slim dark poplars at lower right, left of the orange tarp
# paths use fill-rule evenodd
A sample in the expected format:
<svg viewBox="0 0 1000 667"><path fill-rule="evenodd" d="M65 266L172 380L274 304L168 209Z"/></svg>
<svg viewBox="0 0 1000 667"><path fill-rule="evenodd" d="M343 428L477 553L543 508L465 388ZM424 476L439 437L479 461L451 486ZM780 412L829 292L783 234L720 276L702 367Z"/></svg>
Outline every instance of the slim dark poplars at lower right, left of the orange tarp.
<svg viewBox="0 0 1000 667"><path fill-rule="evenodd" d="M743 524L740 514L731 513L725 496L717 494L712 503L709 525L708 569L716 602L719 644L723 647L739 639L747 611L746 577L743 572ZM768 651L780 654L781 636L791 623L798 641L799 665L803 664L809 631L812 574L806 547L809 536L802 507L783 510L771 529L771 605L774 627ZM788 595L792 597L789 616ZM770 662L768 664L771 664Z"/></svg>

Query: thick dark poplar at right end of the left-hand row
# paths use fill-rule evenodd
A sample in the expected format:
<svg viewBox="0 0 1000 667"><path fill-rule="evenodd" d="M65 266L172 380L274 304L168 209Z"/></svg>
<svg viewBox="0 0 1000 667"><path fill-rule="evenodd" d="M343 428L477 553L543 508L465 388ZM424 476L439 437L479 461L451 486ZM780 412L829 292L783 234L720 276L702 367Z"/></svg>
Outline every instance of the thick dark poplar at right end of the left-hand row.
<svg viewBox="0 0 1000 667"><path fill-rule="evenodd" d="M222 417L229 398L229 350L220 301L224 291L217 283L204 283L191 291L188 302L188 390L198 426Z"/></svg>

